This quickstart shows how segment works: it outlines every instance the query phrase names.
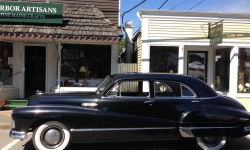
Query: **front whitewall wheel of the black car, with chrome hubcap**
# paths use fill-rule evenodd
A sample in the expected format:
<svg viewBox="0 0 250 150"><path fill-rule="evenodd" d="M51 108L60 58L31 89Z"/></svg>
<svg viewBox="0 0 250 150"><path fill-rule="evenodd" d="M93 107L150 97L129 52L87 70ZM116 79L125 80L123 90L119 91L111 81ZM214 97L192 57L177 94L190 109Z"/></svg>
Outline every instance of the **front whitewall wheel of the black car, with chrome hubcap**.
<svg viewBox="0 0 250 150"><path fill-rule="evenodd" d="M63 150L70 144L70 133L61 122L49 121L36 128L32 142L38 150Z"/></svg>

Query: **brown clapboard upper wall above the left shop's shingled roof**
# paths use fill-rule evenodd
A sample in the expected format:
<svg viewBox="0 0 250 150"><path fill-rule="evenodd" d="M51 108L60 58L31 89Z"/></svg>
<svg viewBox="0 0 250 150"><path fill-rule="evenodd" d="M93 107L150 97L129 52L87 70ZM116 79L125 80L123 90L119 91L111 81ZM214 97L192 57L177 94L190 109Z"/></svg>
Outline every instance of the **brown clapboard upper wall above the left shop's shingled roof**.
<svg viewBox="0 0 250 150"><path fill-rule="evenodd" d="M11 0L18 1L18 0ZM22 0L22 2L43 2L46 0ZM49 0L49 3L63 3L63 4L82 4L82 5L95 5L99 8L105 16L111 20L116 26L119 24L119 0Z"/></svg>

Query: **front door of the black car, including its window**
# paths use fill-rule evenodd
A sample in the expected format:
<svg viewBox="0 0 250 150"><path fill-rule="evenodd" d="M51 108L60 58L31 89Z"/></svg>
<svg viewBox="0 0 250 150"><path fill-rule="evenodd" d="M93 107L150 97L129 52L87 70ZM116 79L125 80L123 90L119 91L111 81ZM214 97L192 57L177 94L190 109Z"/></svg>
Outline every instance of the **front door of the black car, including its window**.
<svg viewBox="0 0 250 150"><path fill-rule="evenodd" d="M101 101L94 125L96 140L151 138L154 127L149 92L141 84L148 81L122 81L113 86Z"/></svg>

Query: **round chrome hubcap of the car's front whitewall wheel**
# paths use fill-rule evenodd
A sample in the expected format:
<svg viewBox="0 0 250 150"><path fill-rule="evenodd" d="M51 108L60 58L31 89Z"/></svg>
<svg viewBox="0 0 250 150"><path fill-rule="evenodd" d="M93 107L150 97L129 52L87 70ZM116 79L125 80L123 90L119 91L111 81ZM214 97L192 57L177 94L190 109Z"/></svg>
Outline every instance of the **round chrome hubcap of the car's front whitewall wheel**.
<svg viewBox="0 0 250 150"><path fill-rule="evenodd" d="M44 135L44 141L50 145L56 145L61 140L61 133L56 129L50 129Z"/></svg>

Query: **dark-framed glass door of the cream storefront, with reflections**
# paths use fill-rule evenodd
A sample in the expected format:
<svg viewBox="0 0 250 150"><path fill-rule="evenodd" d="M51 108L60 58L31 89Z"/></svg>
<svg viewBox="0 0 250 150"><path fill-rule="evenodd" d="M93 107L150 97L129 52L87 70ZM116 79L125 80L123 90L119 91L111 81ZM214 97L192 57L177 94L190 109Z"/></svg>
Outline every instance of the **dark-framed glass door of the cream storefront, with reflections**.
<svg viewBox="0 0 250 150"><path fill-rule="evenodd" d="M187 74L207 82L207 52L189 51Z"/></svg>

